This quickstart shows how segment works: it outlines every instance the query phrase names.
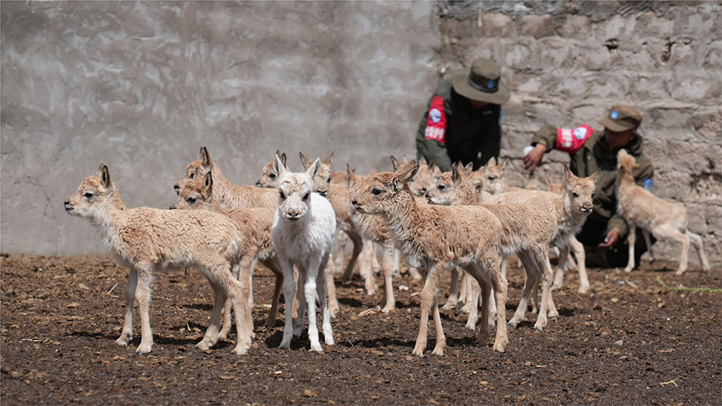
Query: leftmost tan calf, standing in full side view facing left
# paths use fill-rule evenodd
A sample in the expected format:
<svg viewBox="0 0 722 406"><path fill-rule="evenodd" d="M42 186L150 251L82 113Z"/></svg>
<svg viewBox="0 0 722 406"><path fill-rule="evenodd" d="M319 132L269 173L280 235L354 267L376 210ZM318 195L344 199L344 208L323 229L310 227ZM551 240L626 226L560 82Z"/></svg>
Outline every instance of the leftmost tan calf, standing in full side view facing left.
<svg viewBox="0 0 722 406"><path fill-rule="evenodd" d="M125 321L121 337L116 340L118 344L128 345L133 337L133 306L137 301L142 338L136 353L150 352L153 346L149 317L153 272L168 266L195 266L211 282L215 295L209 327L196 347L207 350L216 344L221 310L226 298L230 298L238 329L235 353L240 355L248 351L251 343L248 333L243 331L242 287L230 273L231 264L238 257L241 238L230 219L205 211L127 209L110 181L105 165L100 165L97 176L85 178L64 205L69 214L89 219L116 260L130 269L125 292Z"/></svg>

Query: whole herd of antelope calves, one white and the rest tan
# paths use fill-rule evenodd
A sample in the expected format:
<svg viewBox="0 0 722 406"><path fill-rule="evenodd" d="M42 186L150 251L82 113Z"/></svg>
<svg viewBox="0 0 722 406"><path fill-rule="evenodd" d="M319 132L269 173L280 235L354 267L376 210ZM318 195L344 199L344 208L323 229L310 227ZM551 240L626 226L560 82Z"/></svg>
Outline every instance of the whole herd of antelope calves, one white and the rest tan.
<svg viewBox="0 0 722 406"><path fill-rule="evenodd" d="M126 208L105 165L96 176L85 178L78 191L65 200L65 210L90 219L116 261L130 269L123 332L116 342L127 345L133 337L137 302L142 339L136 352L149 353L153 345L149 305L154 270L194 266L214 291L209 327L196 347L206 350L227 337L232 306L238 336L234 352L245 354L255 335L251 278L256 262L260 262L276 277L266 327L277 319L282 288L286 298L279 348L290 348L292 337L303 332L308 306L310 350L321 352L316 299L321 307L323 339L326 345L333 345L331 318L339 309L334 270L342 268L344 244L349 240L353 254L340 278L349 280L360 259L368 294L375 291L374 263L379 266L373 244L383 246L380 311L394 308L392 276L398 272L399 252L409 264L409 273L425 278L413 351L419 357L426 348L430 312L436 332L433 353L442 355L444 351L437 290L445 272L451 271L452 283L443 308L463 301L469 312L466 327L475 329L481 298L477 342L485 345L496 325L493 349L499 352L508 343L507 325L516 327L530 302L533 311L538 308L535 329L544 329L547 317L558 316L552 290L562 285L567 258L571 261L570 249L579 271L579 292L588 290L584 249L575 234L593 210L597 173L578 178L565 168L564 183L547 179L549 191L539 191L506 186L502 178L505 162L497 165L494 158L477 171L470 165L454 164L451 172L440 173L438 167L423 159L417 164L391 157L394 172L373 170L368 176L358 176L349 165L345 173L332 172L333 156L321 163L300 154L305 172L293 173L285 154L277 152L273 162L264 166L256 186L234 186L201 147L200 160L188 165L183 179L175 183L178 200L170 207L175 210ZM684 210L636 186L631 177L634 165L634 157L620 150L619 213L630 223L630 229L642 228L648 245L650 232L681 241L678 274L687 267L691 238L703 269L709 269L702 239L687 230ZM627 272L635 266L631 251L634 233L630 234ZM334 240L336 251L332 253ZM553 281L550 248L559 252L560 266ZM505 276L506 256L510 254L523 264L526 282L516 313L507 321ZM541 301L537 303L540 282Z"/></svg>

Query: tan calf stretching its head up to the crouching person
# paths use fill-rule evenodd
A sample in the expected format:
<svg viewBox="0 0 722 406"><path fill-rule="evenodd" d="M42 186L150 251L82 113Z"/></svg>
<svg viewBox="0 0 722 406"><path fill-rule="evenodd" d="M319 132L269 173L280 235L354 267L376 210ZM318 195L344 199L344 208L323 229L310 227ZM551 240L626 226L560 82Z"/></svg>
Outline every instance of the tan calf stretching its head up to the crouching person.
<svg viewBox="0 0 722 406"><path fill-rule="evenodd" d="M625 272L630 272L635 267L635 229L638 227L642 229L650 255L652 244L649 233L653 233L656 238L671 238L682 243L682 255L679 258L679 269L675 272L676 275L682 275L687 269L690 239L695 244L697 254L700 255L702 269L709 271L710 264L705 256L702 238L687 228L687 212L677 204L665 202L637 186L632 174L637 168L639 165L635 163L635 158L626 150L622 149L617 152L617 212L627 220L629 226L627 243L630 246L630 259Z"/></svg>

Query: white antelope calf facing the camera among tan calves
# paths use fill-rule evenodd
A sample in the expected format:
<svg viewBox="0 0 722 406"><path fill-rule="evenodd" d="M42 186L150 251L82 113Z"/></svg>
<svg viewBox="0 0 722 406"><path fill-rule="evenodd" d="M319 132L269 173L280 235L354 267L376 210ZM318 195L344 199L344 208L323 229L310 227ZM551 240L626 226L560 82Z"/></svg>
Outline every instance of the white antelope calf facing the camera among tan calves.
<svg viewBox="0 0 722 406"><path fill-rule="evenodd" d="M336 233L336 215L331 203L313 192L313 181L318 176L321 160L317 159L305 173L288 172L278 156L274 157L274 170L278 173L278 208L274 215L271 236L281 259L284 274L284 297L295 293L293 267L298 268L298 283L303 285L299 298L295 329L292 308L286 305L286 322L279 348L289 349L291 338L303 332L305 306L308 305L308 338L312 351L323 351L318 341L316 326L316 290L323 314L323 338L333 345L331 316L326 301L326 263Z"/></svg>

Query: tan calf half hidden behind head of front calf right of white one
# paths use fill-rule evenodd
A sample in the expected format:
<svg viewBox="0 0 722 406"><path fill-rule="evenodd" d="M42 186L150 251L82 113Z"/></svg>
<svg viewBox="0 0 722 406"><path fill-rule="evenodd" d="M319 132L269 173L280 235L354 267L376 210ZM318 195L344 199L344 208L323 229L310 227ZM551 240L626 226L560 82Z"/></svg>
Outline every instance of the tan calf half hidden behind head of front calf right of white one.
<svg viewBox="0 0 722 406"><path fill-rule="evenodd" d="M374 168L368 176L356 176L349 165L346 165L349 178L349 196L360 195L368 189L368 179L376 175ZM386 222L380 215L371 215L365 212L354 210L353 221L361 230L362 236L379 243L383 246L383 261L381 262L381 275L383 275L383 299L381 300L381 311L388 313L396 308L396 301L393 298L393 255L396 247L391 238ZM373 253L375 255L375 253Z"/></svg>

